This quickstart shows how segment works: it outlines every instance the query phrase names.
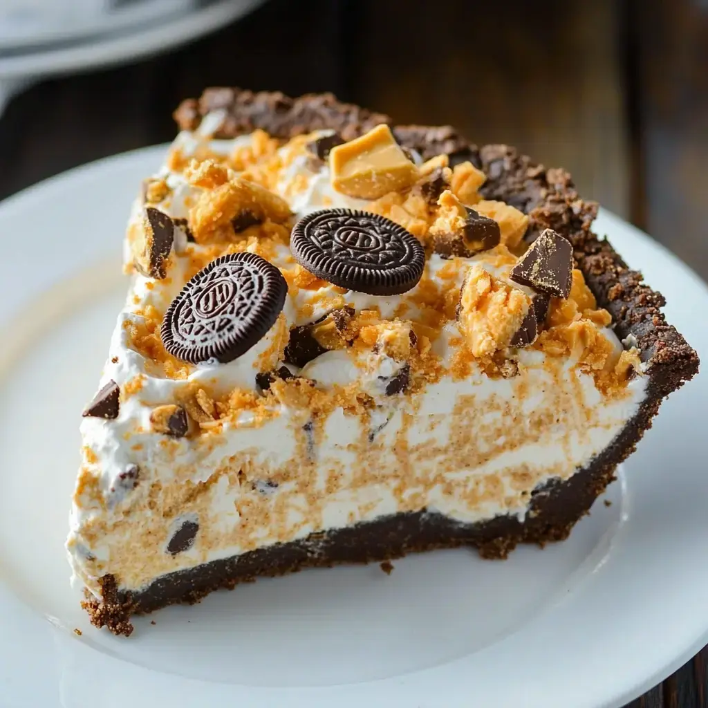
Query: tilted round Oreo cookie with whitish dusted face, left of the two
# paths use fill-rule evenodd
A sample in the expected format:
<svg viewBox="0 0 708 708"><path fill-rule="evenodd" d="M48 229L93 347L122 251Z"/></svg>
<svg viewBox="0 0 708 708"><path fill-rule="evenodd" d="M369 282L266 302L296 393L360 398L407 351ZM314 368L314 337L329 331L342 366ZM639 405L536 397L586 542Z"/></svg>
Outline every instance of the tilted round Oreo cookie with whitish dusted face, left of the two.
<svg viewBox="0 0 708 708"><path fill-rule="evenodd" d="M197 273L173 299L161 335L171 355L226 363L268 333L285 304L287 282L256 253L229 253Z"/></svg>

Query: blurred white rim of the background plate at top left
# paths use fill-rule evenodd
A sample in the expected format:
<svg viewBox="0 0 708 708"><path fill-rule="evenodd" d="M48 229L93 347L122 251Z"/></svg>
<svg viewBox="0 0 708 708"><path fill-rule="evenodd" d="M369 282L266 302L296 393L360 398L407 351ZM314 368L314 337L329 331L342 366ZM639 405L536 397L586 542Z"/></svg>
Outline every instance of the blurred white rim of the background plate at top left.
<svg viewBox="0 0 708 708"><path fill-rule="evenodd" d="M127 60L137 61L222 27L263 1L208 0L192 11L174 13L162 21L146 23L139 30L133 28L130 32L101 35L85 42L0 56L0 79L65 74Z"/></svg>

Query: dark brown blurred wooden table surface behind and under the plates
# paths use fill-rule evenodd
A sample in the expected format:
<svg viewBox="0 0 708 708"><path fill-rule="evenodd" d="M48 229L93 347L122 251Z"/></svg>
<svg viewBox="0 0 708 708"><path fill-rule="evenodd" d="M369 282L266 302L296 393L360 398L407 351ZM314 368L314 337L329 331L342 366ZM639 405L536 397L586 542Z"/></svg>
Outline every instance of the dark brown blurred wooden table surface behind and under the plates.
<svg viewBox="0 0 708 708"><path fill-rule="evenodd" d="M167 55L22 93L0 118L0 198L169 141L181 98L219 84L334 91L515 144L708 277L706 0L270 0ZM708 708L707 666L704 649L632 708Z"/></svg>

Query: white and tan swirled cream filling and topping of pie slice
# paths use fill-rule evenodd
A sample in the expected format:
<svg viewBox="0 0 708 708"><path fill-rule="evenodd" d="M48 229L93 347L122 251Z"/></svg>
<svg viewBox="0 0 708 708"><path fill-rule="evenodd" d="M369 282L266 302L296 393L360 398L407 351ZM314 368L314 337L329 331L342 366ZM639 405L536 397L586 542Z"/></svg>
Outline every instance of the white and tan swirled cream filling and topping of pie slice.
<svg viewBox="0 0 708 708"><path fill-rule="evenodd" d="M210 115L198 132L179 135L173 150L188 158L200 150L230 155L251 146L251 136L210 139L220 120ZM278 151L276 191L296 216L324 207L366 207L332 188L326 165L313 165L302 151L293 155L294 149ZM159 209L187 219L203 188L174 166L156 177L170 189ZM139 200L126 242L128 263L130 231L139 228L141 208ZM168 278L133 275L101 380L121 388L118 418L84 418L81 424L83 464L67 550L75 576L96 595L106 573L120 588L138 590L164 573L406 511L426 509L464 524L498 515L523 519L533 489L585 467L644 399L641 371L608 392L574 353L513 350L511 370L502 367L503 374L494 375L482 362L461 357L457 322L441 313L435 318L426 292L441 284L445 292L459 291L472 263L508 282L511 265L501 249L474 258L433 253L421 283L403 295L345 292L325 282L291 287L278 321L256 346L226 364L185 364L177 376L136 345L135 332L144 329L146 312L165 312L194 274L195 258L206 263L209 254L209 246L190 243L178 227ZM268 260L286 278L298 268L285 244L270 244ZM429 357L435 376L413 393L387 394L406 362L379 341L369 350L327 351L302 370L288 365L314 382L318 401L329 401L316 414L285 392L253 404L262 394L256 375L282 366L290 330L341 307L424 328L434 319L438 329ZM619 356L622 344L612 330L597 329ZM250 402L228 418L202 424L198 435L156 433L155 406L173 404L199 387L214 398L243 392ZM350 405L353 391L366 394L370 404ZM136 467L137 482L125 476ZM198 525L193 544L167 552L186 521Z"/></svg>

